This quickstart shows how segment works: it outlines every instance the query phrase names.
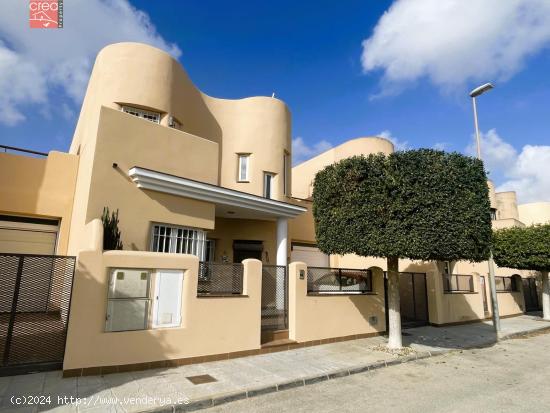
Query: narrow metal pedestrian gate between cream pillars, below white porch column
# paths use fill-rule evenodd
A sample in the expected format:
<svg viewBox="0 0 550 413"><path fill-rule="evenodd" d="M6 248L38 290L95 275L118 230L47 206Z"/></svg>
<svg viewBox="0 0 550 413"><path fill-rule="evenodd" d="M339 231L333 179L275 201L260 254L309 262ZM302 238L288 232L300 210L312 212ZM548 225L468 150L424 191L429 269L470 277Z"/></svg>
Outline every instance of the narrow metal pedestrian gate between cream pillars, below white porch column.
<svg viewBox="0 0 550 413"><path fill-rule="evenodd" d="M288 273L284 265L262 266L262 330L288 328Z"/></svg>

